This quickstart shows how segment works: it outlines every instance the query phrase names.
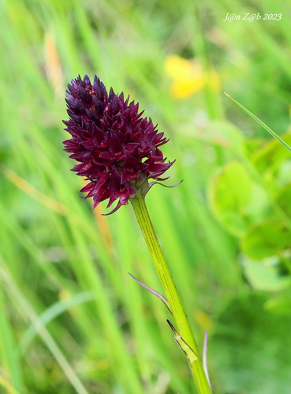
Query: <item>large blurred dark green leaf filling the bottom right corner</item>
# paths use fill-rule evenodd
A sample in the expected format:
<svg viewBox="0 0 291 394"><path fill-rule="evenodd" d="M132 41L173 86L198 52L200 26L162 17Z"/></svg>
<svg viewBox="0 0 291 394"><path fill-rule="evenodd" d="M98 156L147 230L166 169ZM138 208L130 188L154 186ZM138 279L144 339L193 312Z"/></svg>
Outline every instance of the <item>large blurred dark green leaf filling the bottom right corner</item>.
<svg viewBox="0 0 291 394"><path fill-rule="evenodd" d="M209 354L219 376L215 393L289 394L291 315L265 309L265 296L230 301L217 319Z"/></svg>

